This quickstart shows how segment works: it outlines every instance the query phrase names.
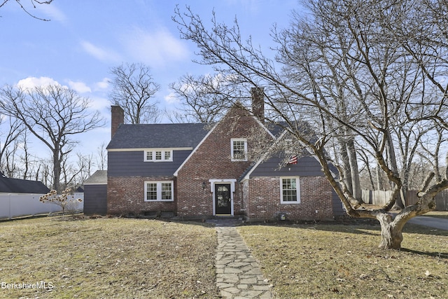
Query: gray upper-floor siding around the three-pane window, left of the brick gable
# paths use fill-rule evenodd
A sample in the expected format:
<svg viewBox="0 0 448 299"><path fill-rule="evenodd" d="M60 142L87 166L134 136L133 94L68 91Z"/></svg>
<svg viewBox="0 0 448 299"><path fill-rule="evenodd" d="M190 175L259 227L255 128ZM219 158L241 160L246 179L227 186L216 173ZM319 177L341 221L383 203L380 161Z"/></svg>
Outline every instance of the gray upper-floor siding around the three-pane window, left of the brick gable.
<svg viewBox="0 0 448 299"><path fill-rule="evenodd" d="M172 176L190 155L173 151L173 162L144 162L144 151L109 151L108 176Z"/></svg>

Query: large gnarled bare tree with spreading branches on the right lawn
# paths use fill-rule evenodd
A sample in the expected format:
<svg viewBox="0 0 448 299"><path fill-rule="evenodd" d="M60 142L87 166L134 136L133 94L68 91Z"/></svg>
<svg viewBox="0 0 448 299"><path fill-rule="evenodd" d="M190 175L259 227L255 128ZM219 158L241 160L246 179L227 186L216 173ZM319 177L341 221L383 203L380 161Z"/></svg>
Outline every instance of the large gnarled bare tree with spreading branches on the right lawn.
<svg viewBox="0 0 448 299"><path fill-rule="evenodd" d="M236 21L229 27L212 18L207 29L189 8L177 8L174 21L181 37L200 49L200 63L246 88L264 86L265 106L272 112L267 120L283 124L293 144L314 154L347 214L379 221L381 248L400 249L403 225L434 209L435 195L448 188L447 173L435 180L428 172L418 202L395 217L389 214L406 183L400 159L401 165L412 165L413 153L422 149L420 141L434 132L432 121L441 130L446 127L448 92L439 79L447 68L447 34L436 24L440 8L429 0L304 4L312 18L293 13L290 27L272 32L276 61L250 38L241 39ZM406 139L408 151L401 157L395 145L405 139L397 127L422 129ZM353 174L359 175L356 151L364 148L363 159L378 165L393 190L379 209L362 204L349 186ZM338 167L339 178L330 165Z"/></svg>

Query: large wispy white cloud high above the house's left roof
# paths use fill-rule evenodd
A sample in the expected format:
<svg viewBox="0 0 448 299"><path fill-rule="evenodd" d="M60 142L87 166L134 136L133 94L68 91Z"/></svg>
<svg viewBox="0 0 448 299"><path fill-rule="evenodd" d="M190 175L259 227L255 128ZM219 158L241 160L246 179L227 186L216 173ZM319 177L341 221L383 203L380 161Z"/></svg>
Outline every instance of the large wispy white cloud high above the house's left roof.
<svg viewBox="0 0 448 299"><path fill-rule="evenodd" d="M125 36L124 41L135 61L144 62L151 67L163 67L169 62L188 59L186 44L165 28L156 32L135 28Z"/></svg>

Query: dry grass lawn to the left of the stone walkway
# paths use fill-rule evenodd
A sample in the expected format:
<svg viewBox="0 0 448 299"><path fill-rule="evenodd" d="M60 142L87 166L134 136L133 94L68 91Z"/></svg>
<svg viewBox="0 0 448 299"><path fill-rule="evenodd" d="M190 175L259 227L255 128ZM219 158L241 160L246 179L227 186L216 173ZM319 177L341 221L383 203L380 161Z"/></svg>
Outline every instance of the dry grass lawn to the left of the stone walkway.
<svg viewBox="0 0 448 299"><path fill-rule="evenodd" d="M214 298L216 232L199 223L71 217L0 222L0 298Z"/></svg>

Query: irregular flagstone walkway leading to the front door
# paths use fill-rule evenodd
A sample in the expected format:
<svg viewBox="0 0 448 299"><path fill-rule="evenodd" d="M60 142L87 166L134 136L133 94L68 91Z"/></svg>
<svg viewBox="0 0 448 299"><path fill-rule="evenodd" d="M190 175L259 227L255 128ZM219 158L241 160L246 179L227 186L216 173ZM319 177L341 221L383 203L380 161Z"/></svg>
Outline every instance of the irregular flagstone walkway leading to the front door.
<svg viewBox="0 0 448 299"><path fill-rule="evenodd" d="M223 298L272 298L270 286L237 228L217 225L216 285Z"/></svg>

